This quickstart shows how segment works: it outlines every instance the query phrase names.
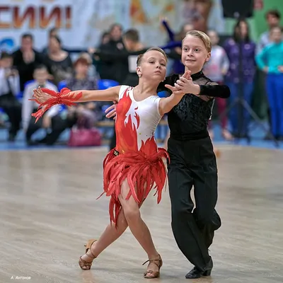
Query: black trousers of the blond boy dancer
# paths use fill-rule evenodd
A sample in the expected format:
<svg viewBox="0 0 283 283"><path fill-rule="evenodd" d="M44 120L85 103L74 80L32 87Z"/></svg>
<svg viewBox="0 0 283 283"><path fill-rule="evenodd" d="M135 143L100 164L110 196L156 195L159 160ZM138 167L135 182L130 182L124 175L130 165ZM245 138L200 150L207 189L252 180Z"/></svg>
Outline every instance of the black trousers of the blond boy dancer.
<svg viewBox="0 0 283 283"><path fill-rule="evenodd" d="M208 248L221 226L215 210L217 166L212 141L169 138L168 183L172 229L178 247L198 270L209 262ZM194 187L195 209L190 192Z"/></svg>

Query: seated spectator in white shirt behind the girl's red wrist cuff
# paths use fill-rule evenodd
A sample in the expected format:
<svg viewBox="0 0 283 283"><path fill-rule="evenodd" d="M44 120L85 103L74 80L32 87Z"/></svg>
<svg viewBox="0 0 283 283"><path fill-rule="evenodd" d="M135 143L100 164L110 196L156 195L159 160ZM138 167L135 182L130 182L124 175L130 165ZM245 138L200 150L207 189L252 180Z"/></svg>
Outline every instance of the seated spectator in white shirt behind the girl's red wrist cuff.
<svg viewBox="0 0 283 283"><path fill-rule="evenodd" d="M59 105L54 105L50 110L48 110L42 119L38 120L35 124L35 117L32 117L31 114L37 111L37 103L35 101L30 101L29 99L33 98L33 90L38 88L49 88L52 91L58 92L57 86L54 86L53 83L47 81L48 71L47 68L43 65L39 65L35 68L34 71L35 82L29 83L23 91L23 131L25 132L25 141L30 145L36 145L39 143L54 144L54 141L57 140L59 134L61 134L61 124L59 118ZM45 128L47 131L46 137L41 140L32 141L32 136L38 129Z"/></svg>

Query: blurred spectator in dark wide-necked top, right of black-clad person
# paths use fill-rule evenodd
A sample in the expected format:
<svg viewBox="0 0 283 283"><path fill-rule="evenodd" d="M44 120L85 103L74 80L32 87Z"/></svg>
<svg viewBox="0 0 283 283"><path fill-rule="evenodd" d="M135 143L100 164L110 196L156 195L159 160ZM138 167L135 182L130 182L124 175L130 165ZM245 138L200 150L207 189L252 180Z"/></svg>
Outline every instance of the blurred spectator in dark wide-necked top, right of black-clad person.
<svg viewBox="0 0 283 283"><path fill-rule="evenodd" d="M53 83L57 86L59 81L71 77L73 64L69 53L62 50L62 42L59 37L51 36L48 48L44 62L52 75Z"/></svg>

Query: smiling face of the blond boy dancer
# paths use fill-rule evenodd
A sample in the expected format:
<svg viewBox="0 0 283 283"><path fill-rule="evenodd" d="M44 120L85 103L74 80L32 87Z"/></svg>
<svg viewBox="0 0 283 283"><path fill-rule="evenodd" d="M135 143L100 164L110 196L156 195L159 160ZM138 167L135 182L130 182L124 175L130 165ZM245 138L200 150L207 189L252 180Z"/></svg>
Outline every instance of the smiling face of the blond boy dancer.
<svg viewBox="0 0 283 283"><path fill-rule="evenodd" d="M182 47L182 62L186 70L190 70L192 74L195 74L202 69L204 63L209 61L209 58L210 52L207 52L207 48L200 38L192 35L185 37Z"/></svg>

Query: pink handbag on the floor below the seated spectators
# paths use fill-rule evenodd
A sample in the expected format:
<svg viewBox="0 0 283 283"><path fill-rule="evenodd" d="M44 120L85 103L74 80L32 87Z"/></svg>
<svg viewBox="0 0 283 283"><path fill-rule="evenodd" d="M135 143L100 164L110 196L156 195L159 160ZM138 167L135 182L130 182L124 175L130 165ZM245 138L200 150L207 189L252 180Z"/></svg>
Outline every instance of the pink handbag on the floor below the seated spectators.
<svg viewBox="0 0 283 283"><path fill-rule="evenodd" d="M95 127L87 129L83 122L79 121L78 126L71 129L68 146L100 146L101 134Z"/></svg>

